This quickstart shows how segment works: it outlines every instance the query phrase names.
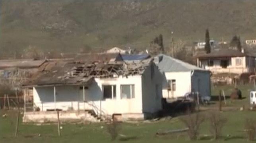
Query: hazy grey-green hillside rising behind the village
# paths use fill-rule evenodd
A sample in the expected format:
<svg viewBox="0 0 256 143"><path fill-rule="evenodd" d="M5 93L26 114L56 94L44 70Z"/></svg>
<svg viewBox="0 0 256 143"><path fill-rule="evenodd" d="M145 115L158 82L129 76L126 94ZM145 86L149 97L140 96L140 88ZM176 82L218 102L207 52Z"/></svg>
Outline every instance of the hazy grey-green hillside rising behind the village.
<svg viewBox="0 0 256 143"><path fill-rule="evenodd" d="M1 0L0 57L35 46L74 52L112 46L147 48L160 33L175 39L229 41L256 36L255 0Z"/></svg>

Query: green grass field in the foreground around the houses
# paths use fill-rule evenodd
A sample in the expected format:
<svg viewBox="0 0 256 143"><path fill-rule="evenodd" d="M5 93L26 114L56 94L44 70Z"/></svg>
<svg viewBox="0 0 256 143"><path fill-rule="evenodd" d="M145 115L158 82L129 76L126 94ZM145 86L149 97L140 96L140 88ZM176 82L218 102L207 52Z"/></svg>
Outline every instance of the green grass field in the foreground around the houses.
<svg viewBox="0 0 256 143"><path fill-rule="evenodd" d="M246 118L256 119L256 112L248 110L248 93L252 85L240 85L242 91L242 100L227 99L227 105L223 105L223 116L227 117L228 122L223 127L223 137L216 142L219 143L240 143L247 141L246 134L242 131L244 129L244 122ZM226 95L231 93L231 86L214 87L212 95L217 95L220 89L225 91ZM239 111L242 105L245 106L244 111ZM218 104L213 101L211 105L204 106L206 108L217 107ZM229 107L229 108L226 108ZM229 110L234 107L234 110ZM202 107L203 108L203 107ZM6 118L2 114L7 113ZM68 142L87 142L87 143L102 143L112 142L111 137L107 132L106 126L103 123L98 124L62 124L61 137L58 137L57 126L51 125L31 125L21 124L19 126L19 135L14 137L14 130L16 125L16 112L1 110L0 116L0 143L68 143ZM211 113L210 110L203 110L203 114L207 117ZM181 115L184 116L184 115ZM140 123L122 123L119 135L114 142L215 142L210 137L206 138L202 135L209 135L209 120L206 120L200 128L200 139L197 141L189 141L186 133L176 133L163 136L157 136L157 131L166 131L168 129L184 128L184 125L178 119L180 116L172 118L171 120L163 120L157 122L140 122ZM20 122L21 123L21 122ZM39 135L40 134L40 135ZM228 137L229 135L229 137Z"/></svg>

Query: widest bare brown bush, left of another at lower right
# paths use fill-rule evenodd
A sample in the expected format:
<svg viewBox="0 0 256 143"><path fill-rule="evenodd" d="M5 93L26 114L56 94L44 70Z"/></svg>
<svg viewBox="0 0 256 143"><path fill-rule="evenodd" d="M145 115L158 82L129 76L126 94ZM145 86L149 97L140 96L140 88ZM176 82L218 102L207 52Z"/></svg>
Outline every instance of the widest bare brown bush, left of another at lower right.
<svg viewBox="0 0 256 143"><path fill-rule="evenodd" d="M188 110L188 115L180 118L180 121L188 128L188 136L190 140L196 140L199 135L199 127L204 122L204 116L199 112L191 114Z"/></svg>

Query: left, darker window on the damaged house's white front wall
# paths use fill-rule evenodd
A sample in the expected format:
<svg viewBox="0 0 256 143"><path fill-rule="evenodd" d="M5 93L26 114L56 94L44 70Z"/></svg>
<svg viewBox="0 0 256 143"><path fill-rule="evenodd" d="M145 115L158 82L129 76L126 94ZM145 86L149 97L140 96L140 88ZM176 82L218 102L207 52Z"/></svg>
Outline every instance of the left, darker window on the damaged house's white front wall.
<svg viewBox="0 0 256 143"><path fill-rule="evenodd" d="M116 98L116 85L102 85L103 99Z"/></svg>

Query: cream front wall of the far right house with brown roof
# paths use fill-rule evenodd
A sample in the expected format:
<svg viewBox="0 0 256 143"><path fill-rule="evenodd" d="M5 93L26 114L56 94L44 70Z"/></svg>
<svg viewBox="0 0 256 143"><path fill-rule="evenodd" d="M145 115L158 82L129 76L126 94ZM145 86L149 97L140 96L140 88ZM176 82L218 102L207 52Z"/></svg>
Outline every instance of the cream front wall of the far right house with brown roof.
<svg viewBox="0 0 256 143"><path fill-rule="evenodd" d="M241 59L241 65L236 64L236 59ZM252 57L232 57L229 58L229 66L222 68L219 59L213 59L213 66L208 66L208 60L200 60L200 67L210 70L212 73L248 73L254 68L254 58Z"/></svg>

